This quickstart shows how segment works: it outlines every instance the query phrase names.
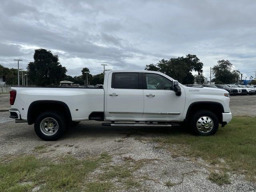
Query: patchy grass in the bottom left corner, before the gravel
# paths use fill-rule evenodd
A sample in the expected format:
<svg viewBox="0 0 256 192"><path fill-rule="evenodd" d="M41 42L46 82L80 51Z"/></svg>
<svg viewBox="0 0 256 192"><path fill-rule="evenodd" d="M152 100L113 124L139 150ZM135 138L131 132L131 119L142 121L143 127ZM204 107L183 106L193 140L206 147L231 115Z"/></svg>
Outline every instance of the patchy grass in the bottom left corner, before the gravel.
<svg viewBox="0 0 256 192"><path fill-rule="evenodd" d="M62 156L55 162L35 156L8 157L0 161L0 191L26 192L35 186L45 192L106 191L112 186L111 182L86 183L85 180L90 172L109 160L107 154L81 160Z"/></svg>

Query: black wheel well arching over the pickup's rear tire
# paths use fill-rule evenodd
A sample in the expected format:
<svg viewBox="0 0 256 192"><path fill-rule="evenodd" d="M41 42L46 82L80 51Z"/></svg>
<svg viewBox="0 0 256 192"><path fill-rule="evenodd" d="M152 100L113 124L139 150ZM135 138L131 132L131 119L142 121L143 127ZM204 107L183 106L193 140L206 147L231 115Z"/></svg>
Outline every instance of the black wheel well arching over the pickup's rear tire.
<svg viewBox="0 0 256 192"><path fill-rule="evenodd" d="M64 102L43 100L43 101L34 101L30 104L28 108L28 117L27 117L28 124L29 125L34 124L38 115L46 111L59 112L64 116L64 119L68 121L72 121L70 110Z"/></svg>

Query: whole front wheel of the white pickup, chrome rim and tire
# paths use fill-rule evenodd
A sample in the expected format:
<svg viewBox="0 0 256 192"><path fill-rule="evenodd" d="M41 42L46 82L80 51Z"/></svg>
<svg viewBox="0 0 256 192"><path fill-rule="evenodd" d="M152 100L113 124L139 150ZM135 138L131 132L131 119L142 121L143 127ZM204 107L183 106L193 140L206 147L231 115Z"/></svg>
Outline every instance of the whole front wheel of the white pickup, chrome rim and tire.
<svg viewBox="0 0 256 192"><path fill-rule="evenodd" d="M190 119L190 127L197 135L213 135L217 132L218 126L217 116L208 110L198 111Z"/></svg>

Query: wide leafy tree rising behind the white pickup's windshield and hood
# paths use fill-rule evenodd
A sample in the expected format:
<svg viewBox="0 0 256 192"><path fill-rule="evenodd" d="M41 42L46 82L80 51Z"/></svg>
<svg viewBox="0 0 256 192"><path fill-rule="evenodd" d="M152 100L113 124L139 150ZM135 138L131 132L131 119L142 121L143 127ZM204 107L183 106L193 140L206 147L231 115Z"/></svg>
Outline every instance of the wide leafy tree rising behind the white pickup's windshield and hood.
<svg viewBox="0 0 256 192"><path fill-rule="evenodd" d="M157 64L146 65L145 70L162 72L182 84L193 84L194 76L192 71L198 72L200 75L203 70L203 63L197 58L196 55L188 54L184 58L170 58L169 60L162 59Z"/></svg>

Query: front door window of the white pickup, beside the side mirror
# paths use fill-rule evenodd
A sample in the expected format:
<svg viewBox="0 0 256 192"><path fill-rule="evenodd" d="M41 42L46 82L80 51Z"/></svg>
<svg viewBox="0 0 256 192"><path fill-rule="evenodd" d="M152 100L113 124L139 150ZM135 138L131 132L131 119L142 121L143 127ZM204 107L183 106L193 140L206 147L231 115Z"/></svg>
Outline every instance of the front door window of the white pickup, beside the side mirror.
<svg viewBox="0 0 256 192"><path fill-rule="evenodd" d="M172 90L172 81L162 75L146 73L147 89Z"/></svg>

